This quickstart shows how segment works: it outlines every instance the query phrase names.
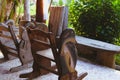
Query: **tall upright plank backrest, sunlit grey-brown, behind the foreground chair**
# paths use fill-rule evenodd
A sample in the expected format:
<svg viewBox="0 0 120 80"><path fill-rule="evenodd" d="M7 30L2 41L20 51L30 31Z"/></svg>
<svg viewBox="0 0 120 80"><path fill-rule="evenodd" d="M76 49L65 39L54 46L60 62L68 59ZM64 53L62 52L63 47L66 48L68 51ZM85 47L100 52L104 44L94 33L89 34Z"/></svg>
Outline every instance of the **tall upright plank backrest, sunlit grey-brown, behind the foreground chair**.
<svg viewBox="0 0 120 80"><path fill-rule="evenodd" d="M49 31L55 36L60 36L62 31L67 28L68 8L65 6L50 7Z"/></svg>

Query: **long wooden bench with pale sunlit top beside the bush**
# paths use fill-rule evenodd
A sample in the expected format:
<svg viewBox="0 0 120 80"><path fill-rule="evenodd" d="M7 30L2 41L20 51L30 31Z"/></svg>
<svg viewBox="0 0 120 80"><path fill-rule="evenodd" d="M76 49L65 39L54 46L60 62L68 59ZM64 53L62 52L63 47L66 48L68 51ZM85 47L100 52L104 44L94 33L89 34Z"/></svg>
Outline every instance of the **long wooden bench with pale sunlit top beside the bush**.
<svg viewBox="0 0 120 80"><path fill-rule="evenodd" d="M76 40L80 53L93 54L97 63L115 68L115 55L120 53L120 46L81 36L76 36Z"/></svg>

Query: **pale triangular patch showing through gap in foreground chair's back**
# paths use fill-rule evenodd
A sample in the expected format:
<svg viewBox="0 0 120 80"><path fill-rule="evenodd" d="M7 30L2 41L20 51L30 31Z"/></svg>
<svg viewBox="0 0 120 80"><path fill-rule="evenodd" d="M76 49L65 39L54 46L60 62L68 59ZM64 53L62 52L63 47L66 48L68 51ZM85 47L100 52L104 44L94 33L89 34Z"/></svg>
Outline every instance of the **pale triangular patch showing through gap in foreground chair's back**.
<svg viewBox="0 0 120 80"><path fill-rule="evenodd" d="M42 56L42 57L45 57L47 59L50 59L50 60L54 61L54 56L53 56L52 50L50 48L42 50L42 51L37 51L36 54L38 54L39 56Z"/></svg>

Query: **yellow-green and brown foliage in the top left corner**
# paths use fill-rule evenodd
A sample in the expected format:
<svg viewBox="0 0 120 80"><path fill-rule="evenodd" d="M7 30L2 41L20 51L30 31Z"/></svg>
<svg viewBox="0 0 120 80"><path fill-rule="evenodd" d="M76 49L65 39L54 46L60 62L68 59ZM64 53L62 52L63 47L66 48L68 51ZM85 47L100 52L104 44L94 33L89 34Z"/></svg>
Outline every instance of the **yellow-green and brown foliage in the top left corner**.
<svg viewBox="0 0 120 80"><path fill-rule="evenodd" d="M0 22L8 19L17 20L17 7L22 0L0 0Z"/></svg>

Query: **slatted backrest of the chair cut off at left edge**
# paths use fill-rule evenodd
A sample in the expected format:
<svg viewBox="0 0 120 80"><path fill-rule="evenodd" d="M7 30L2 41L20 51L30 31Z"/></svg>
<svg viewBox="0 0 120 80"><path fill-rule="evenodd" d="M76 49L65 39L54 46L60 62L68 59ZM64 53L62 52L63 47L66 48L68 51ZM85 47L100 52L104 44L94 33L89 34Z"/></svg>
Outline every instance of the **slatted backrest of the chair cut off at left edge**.
<svg viewBox="0 0 120 80"><path fill-rule="evenodd" d="M13 56L17 57L18 50L19 50L19 43L17 40L17 37L15 35L15 32L13 30L13 28L15 28L14 23L12 21L9 21L7 23L0 23L0 42L2 44L2 46L4 46L2 50L3 54L6 54L4 52L6 51L10 51L11 53L15 53L12 54ZM4 51L6 50L6 51Z"/></svg>

